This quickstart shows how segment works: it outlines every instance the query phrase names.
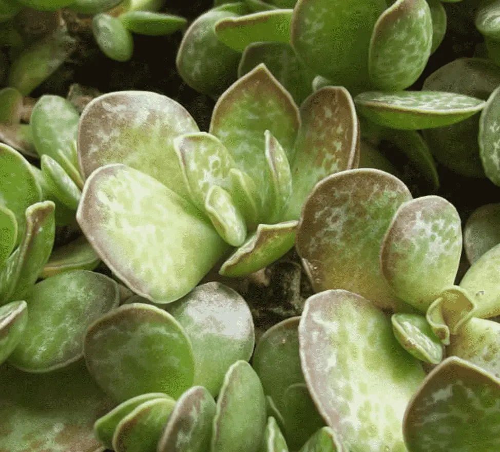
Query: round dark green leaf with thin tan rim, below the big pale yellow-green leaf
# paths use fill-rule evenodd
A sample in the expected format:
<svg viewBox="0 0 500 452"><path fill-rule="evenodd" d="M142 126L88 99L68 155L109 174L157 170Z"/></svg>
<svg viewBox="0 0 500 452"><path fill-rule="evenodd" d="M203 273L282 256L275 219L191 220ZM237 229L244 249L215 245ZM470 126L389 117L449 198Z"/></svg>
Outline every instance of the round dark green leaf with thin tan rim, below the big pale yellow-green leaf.
<svg viewBox="0 0 500 452"><path fill-rule="evenodd" d="M178 398L193 384L193 347L174 317L151 305L132 303L111 311L87 331L87 367L117 401L146 392Z"/></svg>

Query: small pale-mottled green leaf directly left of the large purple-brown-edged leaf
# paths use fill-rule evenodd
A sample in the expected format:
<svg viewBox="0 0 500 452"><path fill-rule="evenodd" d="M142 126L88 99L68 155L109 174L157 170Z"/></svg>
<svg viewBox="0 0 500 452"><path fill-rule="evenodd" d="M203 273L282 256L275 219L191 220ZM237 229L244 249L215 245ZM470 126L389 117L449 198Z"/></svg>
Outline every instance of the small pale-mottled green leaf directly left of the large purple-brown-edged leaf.
<svg viewBox="0 0 500 452"><path fill-rule="evenodd" d="M31 131L38 155L48 155L83 185L74 147L79 119L79 112L71 102L59 96L43 96L33 108Z"/></svg>

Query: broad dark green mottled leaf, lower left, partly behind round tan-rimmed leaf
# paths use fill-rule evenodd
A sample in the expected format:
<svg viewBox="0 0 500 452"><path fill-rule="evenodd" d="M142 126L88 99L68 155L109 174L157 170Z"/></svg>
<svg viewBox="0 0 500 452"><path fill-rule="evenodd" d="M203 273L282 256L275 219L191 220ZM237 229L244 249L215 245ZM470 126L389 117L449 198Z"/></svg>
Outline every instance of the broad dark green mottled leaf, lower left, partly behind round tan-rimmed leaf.
<svg viewBox="0 0 500 452"><path fill-rule="evenodd" d="M28 372L49 372L83 356L87 328L118 306L118 285L99 273L77 270L35 284L25 299L28 323L9 362Z"/></svg>

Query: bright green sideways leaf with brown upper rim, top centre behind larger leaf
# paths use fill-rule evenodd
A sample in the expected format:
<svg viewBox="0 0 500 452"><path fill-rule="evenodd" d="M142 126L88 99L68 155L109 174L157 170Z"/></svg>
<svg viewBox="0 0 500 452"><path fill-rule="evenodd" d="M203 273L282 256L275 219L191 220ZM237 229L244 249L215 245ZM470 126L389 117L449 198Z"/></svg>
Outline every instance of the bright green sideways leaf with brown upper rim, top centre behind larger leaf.
<svg viewBox="0 0 500 452"><path fill-rule="evenodd" d="M261 11L223 18L215 24L217 39L239 52L254 42L290 43L292 9Z"/></svg>

